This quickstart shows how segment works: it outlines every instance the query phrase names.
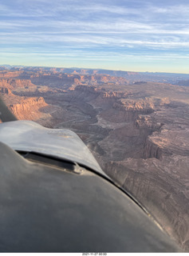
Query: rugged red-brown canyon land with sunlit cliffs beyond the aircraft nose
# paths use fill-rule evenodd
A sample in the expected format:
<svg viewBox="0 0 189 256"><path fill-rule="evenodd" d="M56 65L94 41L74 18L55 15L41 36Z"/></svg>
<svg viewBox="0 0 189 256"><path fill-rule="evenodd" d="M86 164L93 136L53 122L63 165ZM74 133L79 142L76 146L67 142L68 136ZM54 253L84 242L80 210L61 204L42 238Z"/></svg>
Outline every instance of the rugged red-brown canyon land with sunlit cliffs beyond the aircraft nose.
<svg viewBox="0 0 189 256"><path fill-rule="evenodd" d="M19 119L76 132L104 172L189 250L189 87L106 75L2 74L1 94Z"/></svg>

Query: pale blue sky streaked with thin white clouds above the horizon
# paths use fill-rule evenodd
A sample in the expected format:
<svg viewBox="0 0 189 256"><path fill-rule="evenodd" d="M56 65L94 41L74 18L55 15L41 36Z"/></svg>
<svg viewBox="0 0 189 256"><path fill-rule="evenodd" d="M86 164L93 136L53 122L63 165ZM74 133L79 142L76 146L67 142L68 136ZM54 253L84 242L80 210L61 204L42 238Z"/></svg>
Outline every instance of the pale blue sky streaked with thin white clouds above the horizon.
<svg viewBox="0 0 189 256"><path fill-rule="evenodd" d="M189 73L189 1L0 0L0 65Z"/></svg>

